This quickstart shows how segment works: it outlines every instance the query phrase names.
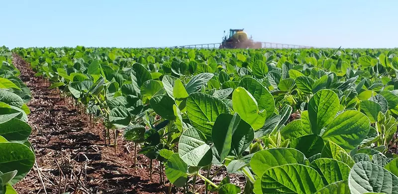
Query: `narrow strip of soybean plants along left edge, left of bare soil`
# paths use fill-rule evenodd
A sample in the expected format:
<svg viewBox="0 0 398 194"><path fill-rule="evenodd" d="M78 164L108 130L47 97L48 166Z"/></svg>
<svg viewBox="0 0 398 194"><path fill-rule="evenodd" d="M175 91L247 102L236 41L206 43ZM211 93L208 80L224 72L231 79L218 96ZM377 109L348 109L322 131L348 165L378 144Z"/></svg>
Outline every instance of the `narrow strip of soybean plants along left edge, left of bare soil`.
<svg viewBox="0 0 398 194"><path fill-rule="evenodd" d="M30 110L26 103L30 90L17 77L12 54L0 47L0 194L16 194L12 186L22 180L35 162L28 141L32 128L27 123Z"/></svg>

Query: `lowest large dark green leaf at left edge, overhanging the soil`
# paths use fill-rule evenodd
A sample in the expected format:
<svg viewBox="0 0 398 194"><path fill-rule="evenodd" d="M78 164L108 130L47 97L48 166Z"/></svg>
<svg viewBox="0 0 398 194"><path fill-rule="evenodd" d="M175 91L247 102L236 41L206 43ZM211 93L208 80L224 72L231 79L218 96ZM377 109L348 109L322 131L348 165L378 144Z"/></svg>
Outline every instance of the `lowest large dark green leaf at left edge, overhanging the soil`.
<svg viewBox="0 0 398 194"><path fill-rule="evenodd" d="M16 176L10 181L12 184L22 180L33 167L35 155L23 144L0 143L0 153L0 172L17 170Z"/></svg>

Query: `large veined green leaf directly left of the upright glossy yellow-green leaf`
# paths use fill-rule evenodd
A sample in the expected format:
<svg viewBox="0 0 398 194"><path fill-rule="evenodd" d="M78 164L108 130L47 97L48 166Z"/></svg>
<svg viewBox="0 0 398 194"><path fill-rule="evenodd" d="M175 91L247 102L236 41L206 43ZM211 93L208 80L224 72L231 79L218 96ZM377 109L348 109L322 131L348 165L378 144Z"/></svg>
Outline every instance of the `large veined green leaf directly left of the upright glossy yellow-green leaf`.
<svg viewBox="0 0 398 194"><path fill-rule="evenodd" d="M211 137L213 123L221 113L229 113L227 105L216 97L193 93L187 98L187 113L191 124Z"/></svg>

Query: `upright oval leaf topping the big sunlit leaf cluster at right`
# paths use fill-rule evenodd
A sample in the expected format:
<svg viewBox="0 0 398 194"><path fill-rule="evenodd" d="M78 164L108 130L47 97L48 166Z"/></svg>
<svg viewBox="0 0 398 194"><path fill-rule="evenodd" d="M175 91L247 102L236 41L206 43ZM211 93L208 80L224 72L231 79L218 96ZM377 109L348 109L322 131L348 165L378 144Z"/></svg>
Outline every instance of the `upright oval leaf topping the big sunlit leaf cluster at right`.
<svg viewBox="0 0 398 194"><path fill-rule="evenodd" d="M320 134L339 110L339 98L331 90L320 90L309 99L308 116L312 133Z"/></svg>

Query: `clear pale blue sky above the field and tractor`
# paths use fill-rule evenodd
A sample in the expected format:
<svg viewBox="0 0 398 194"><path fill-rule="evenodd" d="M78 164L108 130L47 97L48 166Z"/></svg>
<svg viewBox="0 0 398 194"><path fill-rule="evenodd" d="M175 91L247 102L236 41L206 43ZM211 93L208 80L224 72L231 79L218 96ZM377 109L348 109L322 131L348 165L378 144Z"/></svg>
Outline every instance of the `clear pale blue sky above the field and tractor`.
<svg viewBox="0 0 398 194"><path fill-rule="evenodd" d="M151 47L254 40L398 47L398 0L3 0L0 45Z"/></svg>

